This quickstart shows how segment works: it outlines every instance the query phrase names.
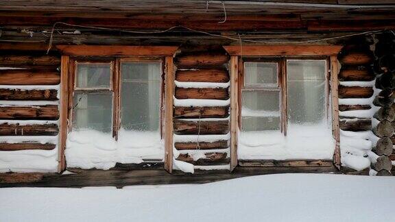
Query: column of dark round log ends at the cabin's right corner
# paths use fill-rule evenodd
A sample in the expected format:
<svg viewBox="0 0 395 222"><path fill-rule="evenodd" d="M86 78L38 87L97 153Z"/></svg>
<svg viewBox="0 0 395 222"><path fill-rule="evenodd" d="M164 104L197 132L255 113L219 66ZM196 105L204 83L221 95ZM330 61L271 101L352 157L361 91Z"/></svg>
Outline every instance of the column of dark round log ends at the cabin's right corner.
<svg viewBox="0 0 395 222"><path fill-rule="evenodd" d="M374 114L379 124L374 127L373 132L380 139L373 151L379 157L372 163L372 169L378 171L377 175L391 175L392 153L394 153L394 129L395 129L395 42L390 34L379 34L376 36L378 42L374 50L376 61L374 71L376 77L376 88L381 92L376 96L374 106L381 108Z"/></svg>

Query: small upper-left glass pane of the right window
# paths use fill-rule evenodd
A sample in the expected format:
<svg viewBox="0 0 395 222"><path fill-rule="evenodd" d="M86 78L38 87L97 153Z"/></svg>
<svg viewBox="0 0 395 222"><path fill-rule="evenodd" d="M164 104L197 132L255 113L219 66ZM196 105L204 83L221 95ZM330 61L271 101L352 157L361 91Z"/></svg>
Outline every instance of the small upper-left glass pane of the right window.
<svg viewBox="0 0 395 222"><path fill-rule="evenodd" d="M245 62L244 73L246 86L256 84L277 85L276 62Z"/></svg>

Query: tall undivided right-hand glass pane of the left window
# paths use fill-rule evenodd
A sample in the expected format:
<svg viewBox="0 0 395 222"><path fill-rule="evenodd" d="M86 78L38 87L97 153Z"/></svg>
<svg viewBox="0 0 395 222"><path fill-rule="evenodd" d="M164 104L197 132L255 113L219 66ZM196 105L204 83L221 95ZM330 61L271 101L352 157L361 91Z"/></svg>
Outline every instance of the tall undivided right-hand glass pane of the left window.
<svg viewBox="0 0 395 222"><path fill-rule="evenodd" d="M121 73L121 127L158 131L161 63L123 62Z"/></svg>

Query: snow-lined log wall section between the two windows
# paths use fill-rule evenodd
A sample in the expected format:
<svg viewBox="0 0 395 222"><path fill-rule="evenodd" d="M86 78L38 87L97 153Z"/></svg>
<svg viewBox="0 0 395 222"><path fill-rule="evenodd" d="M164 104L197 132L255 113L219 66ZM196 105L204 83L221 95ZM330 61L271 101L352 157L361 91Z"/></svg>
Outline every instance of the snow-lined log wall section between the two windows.
<svg viewBox="0 0 395 222"><path fill-rule="evenodd" d="M176 160L189 162L195 166L218 166L230 163L230 141L212 139L229 133L229 104L226 103L229 99L229 88L228 86L213 88L205 85L205 83L218 83L224 86L229 82L226 67L228 60L229 56L221 46L181 47L181 52L174 59L177 66L175 90L177 101L173 110L173 126L176 134L174 147L180 151ZM183 85L184 83L188 83L189 86ZM190 99L198 99L200 103L196 105L197 100ZM189 137L193 139L178 140L183 136L193 136ZM207 136L211 139L206 140Z"/></svg>

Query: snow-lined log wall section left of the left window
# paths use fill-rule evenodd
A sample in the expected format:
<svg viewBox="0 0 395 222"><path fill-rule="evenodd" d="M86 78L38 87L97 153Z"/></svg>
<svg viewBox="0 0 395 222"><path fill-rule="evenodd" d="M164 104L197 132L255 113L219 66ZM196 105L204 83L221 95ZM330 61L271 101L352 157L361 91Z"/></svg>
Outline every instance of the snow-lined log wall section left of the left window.
<svg viewBox="0 0 395 222"><path fill-rule="evenodd" d="M0 53L0 172L56 172L60 56Z"/></svg>

